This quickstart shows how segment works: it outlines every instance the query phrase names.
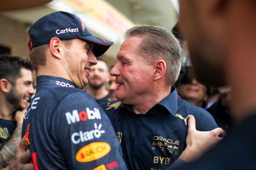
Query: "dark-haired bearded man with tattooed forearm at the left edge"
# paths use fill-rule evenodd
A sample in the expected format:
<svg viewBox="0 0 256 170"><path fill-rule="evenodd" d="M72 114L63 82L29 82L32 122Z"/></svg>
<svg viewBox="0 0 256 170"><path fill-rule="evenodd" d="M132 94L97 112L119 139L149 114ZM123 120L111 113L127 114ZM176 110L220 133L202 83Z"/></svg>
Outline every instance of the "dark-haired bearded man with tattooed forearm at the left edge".
<svg viewBox="0 0 256 170"><path fill-rule="evenodd" d="M28 59L0 56L0 167L12 162L21 139L24 112L35 93Z"/></svg>

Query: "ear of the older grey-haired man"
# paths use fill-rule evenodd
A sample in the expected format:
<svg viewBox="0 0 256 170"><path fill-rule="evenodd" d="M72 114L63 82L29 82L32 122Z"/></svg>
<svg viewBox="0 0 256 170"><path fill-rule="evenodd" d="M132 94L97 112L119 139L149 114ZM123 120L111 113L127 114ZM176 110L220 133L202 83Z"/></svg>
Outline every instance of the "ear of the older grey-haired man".
<svg viewBox="0 0 256 170"><path fill-rule="evenodd" d="M163 59L159 59L154 63L154 81L164 77L166 73L166 63Z"/></svg>

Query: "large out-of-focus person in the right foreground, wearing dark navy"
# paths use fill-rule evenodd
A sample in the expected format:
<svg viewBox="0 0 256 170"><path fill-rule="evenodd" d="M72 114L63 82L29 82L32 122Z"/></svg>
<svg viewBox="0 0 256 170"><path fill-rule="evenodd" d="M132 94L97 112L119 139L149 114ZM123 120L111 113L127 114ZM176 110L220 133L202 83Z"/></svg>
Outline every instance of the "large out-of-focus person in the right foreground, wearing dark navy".
<svg viewBox="0 0 256 170"><path fill-rule="evenodd" d="M195 135L190 135L180 160L191 164L177 169L253 170L256 167L256 1L179 2L180 28L188 40L196 79L206 85L232 88L236 127L195 162L191 162L198 158L194 155L202 151L205 143L200 145L200 141L193 141ZM196 130L193 132L198 134Z"/></svg>

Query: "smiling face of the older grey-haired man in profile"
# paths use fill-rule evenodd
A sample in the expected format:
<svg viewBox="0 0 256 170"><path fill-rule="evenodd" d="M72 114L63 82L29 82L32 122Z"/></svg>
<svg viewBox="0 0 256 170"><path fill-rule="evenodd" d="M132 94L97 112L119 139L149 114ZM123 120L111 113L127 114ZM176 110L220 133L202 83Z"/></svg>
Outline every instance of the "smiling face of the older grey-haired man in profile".
<svg viewBox="0 0 256 170"><path fill-rule="evenodd" d="M110 71L116 76L116 98L124 104L136 104L152 90L154 67L137 52L142 40L140 36L125 39L116 54L118 61Z"/></svg>

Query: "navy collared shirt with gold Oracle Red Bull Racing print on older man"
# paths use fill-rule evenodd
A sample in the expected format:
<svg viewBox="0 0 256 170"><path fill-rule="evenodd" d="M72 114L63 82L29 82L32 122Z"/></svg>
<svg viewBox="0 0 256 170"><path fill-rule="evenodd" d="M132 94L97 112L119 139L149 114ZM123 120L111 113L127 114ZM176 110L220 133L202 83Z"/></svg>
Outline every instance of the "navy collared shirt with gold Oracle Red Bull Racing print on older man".
<svg viewBox="0 0 256 170"><path fill-rule="evenodd" d="M218 127L209 112L182 100L175 88L146 114L136 114L121 102L101 106L112 122L128 169L166 169L177 160L186 148L189 114L195 116L197 130Z"/></svg>

